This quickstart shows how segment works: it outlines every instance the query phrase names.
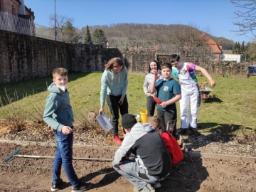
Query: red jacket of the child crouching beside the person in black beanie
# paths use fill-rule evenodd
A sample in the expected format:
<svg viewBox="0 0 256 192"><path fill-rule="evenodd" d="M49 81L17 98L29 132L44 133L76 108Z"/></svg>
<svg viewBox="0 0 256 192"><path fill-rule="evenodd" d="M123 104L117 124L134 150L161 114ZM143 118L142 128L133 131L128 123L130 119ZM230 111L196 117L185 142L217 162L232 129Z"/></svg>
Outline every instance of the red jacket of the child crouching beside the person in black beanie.
<svg viewBox="0 0 256 192"><path fill-rule="evenodd" d="M178 145L178 142L176 141L174 136L172 136L172 134L167 132L165 129L159 129L158 133L160 136L163 133L167 133L169 135L169 146L172 147L169 148L168 151L170 154L172 154L172 166L175 166L176 164L178 164L179 161L183 159L183 152L181 151L181 147Z"/></svg>

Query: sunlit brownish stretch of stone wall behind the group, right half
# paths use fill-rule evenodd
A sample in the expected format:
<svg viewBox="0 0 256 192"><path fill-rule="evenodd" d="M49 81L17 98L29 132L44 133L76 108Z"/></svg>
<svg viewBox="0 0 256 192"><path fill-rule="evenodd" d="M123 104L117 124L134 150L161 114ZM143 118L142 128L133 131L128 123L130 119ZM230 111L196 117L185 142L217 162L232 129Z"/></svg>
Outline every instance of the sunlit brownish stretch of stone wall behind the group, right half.
<svg viewBox="0 0 256 192"><path fill-rule="evenodd" d="M130 73L147 73L151 60L157 60L159 64L170 62L170 54L158 55L152 50L130 51L120 49ZM216 61L203 57L181 57L186 62L196 63L196 65L206 68L208 73L213 76L235 77L247 76L249 63L236 63L235 61Z"/></svg>

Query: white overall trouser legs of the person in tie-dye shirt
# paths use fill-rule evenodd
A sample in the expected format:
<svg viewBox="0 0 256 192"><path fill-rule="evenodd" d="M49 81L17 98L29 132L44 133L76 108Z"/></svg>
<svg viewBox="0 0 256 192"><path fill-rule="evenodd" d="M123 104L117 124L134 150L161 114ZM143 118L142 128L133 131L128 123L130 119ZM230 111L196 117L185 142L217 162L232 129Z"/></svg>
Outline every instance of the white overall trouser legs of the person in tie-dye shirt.
<svg viewBox="0 0 256 192"><path fill-rule="evenodd" d="M196 85L181 85L181 128L186 129L190 125L192 128L197 127L199 91ZM188 105L191 102L190 116L188 116Z"/></svg>

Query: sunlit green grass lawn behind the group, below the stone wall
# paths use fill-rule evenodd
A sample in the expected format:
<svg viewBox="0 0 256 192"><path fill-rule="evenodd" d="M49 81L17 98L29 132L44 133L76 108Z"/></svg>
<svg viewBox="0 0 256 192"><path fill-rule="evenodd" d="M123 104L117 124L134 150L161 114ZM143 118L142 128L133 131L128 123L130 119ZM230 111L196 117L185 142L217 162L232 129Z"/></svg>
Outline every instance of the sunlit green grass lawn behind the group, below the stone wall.
<svg viewBox="0 0 256 192"><path fill-rule="evenodd" d="M68 91L73 106L75 121L82 122L89 111L100 109L100 78L102 73L70 73ZM129 74L127 98L129 113L140 114L146 109L146 95L143 92L144 75ZM256 77L223 78L213 77L216 86L210 92L210 98L201 102L198 112L198 129L201 132L220 132L247 134L255 131L256 124ZM205 77L198 76L199 81L206 82ZM26 119L41 119L47 86L51 77L35 78L0 85L0 119L12 118L26 114ZM6 96L8 95L8 97ZM4 105L4 106L3 106ZM178 114L179 105L177 103ZM106 114L109 115L107 104ZM156 114L156 113L155 113ZM179 116L179 115L178 115ZM180 126L180 117L177 124Z"/></svg>

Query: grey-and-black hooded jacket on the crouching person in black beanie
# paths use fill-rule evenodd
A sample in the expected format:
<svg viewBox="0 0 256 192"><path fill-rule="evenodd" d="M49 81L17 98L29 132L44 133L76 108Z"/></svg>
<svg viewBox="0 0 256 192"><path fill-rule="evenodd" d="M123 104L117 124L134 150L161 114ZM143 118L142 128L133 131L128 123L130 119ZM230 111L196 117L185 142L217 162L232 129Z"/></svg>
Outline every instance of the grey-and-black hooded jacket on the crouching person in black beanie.
<svg viewBox="0 0 256 192"><path fill-rule="evenodd" d="M162 178L171 171L169 152L159 134L149 124L137 123L132 127L114 154L113 165L122 164L130 153L135 155L137 168L144 168L151 176Z"/></svg>

